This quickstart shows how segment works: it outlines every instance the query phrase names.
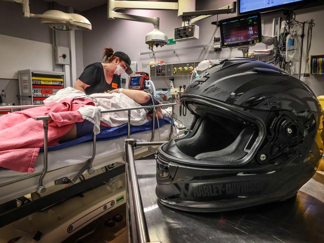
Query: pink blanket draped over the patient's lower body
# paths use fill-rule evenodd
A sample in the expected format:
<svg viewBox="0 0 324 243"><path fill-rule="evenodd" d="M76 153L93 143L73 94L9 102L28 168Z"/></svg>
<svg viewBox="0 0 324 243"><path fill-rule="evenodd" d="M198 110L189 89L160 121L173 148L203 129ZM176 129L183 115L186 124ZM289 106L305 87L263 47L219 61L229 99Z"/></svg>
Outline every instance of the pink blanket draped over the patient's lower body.
<svg viewBox="0 0 324 243"><path fill-rule="evenodd" d="M75 122L82 122L78 108L94 105L90 99L65 99L51 108L36 107L0 118L0 167L33 172L39 148L44 146L43 122L38 116L49 115L48 146L58 144Z"/></svg>

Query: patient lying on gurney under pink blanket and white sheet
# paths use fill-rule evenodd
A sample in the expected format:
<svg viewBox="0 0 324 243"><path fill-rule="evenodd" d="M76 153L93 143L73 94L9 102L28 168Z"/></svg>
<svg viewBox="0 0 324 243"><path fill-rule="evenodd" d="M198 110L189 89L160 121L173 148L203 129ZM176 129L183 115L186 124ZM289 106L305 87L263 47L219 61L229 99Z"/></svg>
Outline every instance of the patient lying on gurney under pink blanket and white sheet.
<svg viewBox="0 0 324 243"><path fill-rule="evenodd" d="M101 111L159 104L143 91L112 90L106 94L86 95L72 87L62 89L44 100L45 106L26 109L0 118L0 167L20 172L33 172L39 150L44 146L43 122L38 116L49 115L48 147L89 133L118 127L128 122L128 112L101 114ZM131 111L131 124L144 125L153 117L162 118L145 109Z"/></svg>

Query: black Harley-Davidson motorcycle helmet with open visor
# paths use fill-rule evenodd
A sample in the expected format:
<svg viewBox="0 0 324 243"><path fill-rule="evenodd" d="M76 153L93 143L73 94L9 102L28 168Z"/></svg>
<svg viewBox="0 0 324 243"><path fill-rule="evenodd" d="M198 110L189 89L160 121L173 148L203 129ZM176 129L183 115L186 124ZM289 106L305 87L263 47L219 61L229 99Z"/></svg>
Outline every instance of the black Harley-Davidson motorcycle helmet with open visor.
<svg viewBox="0 0 324 243"><path fill-rule="evenodd" d="M159 201L218 212L282 201L314 175L322 108L300 80L264 62L224 60L186 88L188 134L157 153Z"/></svg>

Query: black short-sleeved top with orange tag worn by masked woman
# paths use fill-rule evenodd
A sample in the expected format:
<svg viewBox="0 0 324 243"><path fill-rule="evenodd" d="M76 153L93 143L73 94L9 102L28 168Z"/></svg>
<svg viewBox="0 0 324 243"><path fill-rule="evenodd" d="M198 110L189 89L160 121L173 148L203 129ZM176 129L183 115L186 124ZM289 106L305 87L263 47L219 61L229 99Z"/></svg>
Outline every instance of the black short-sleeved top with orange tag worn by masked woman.
<svg viewBox="0 0 324 243"><path fill-rule="evenodd" d="M83 83L90 85L85 89L87 95L104 93L121 87L120 75L116 74L113 75L111 84L107 84L104 67L100 62L95 62L88 65L80 75L79 79Z"/></svg>

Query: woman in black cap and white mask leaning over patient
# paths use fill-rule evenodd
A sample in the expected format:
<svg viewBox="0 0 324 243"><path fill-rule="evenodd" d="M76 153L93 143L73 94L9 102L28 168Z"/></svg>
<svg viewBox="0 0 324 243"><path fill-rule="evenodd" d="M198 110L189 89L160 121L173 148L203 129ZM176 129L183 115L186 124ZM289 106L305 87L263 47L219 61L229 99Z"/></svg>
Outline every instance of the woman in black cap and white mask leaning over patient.
<svg viewBox="0 0 324 243"><path fill-rule="evenodd" d="M121 74L133 73L131 59L122 51L114 52L112 48L105 48L103 59L104 63L95 62L84 69L74 84L75 89L87 95L109 92L120 88Z"/></svg>

